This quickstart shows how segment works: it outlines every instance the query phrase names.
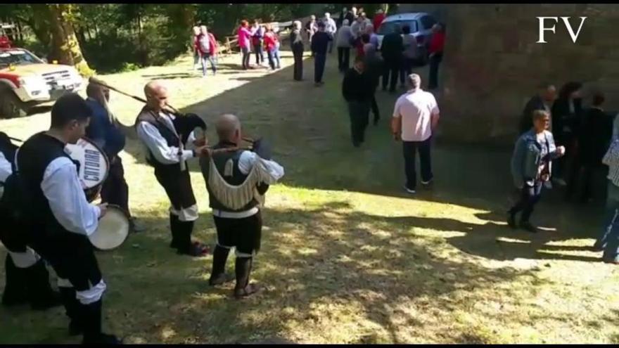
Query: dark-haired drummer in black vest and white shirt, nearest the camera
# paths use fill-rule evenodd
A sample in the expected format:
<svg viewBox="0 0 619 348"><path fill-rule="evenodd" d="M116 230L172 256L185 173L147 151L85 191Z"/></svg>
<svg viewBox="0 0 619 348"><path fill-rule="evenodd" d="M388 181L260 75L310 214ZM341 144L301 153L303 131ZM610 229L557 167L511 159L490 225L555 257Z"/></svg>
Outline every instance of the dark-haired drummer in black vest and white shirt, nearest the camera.
<svg viewBox="0 0 619 348"><path fill-rule="evenodd" d="M70 334L84 344L117 344L101 332L101 276L88 236L96 231L106 205L86 200L77 165L65 153L85 134L91 110L77 94L66 94L51 109L51 127L31 136L18 150L16 167L33 221L29 245L58 275L58 288L70 317Z"/></svg>

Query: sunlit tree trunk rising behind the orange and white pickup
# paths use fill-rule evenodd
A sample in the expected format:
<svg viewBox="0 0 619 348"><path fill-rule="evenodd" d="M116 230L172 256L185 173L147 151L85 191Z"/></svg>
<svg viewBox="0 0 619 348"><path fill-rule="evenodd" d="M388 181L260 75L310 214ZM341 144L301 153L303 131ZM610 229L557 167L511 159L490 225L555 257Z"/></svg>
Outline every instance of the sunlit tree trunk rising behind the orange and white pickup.
<svg viewBox="0 0 619 348"><path fill-rule="evenodd" d="M79 41L70 22L71 4L49 4L51 37L60 64L73 65L80 74L91 76L93 71L82 55Z"/></svg>

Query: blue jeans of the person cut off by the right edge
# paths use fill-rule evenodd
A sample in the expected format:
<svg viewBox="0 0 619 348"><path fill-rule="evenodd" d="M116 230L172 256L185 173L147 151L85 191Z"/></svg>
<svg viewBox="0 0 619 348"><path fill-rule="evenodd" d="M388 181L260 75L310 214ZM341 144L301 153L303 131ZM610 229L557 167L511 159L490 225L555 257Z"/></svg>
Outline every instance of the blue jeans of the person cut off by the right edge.
<svg viewBox="0 0 619 348"><path fill-rule="evenodd" d="M601 236L594 247L604 249L604 260L619 261L619 187L608 181L606 214Z"/></svg>

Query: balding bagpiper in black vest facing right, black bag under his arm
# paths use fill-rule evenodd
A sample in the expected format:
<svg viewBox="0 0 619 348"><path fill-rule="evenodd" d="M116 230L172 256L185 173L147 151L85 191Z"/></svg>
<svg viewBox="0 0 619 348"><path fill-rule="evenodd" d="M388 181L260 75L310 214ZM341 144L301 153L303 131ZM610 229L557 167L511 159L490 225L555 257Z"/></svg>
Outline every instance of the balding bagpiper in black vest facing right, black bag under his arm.
<svg viewBox="0 0 619 348"><path fill-rule="evenodd" d="M155 178L170 199L170 247L177 249L179 254L203 256L207 254L208 248L202 243L191 242L193 224L198 219L198 205L186 161L198 157L205 145L194 141L193 136L183 136L176 129L174 115L165 110L165 86L156 81L149 82L144 87L144 94L147 103L139 113L135 127L138 137L146 146L146 162L155 168ZM183 131L187 132L186 129ZM183 142L183 137L188 138L188 141Z"/></svg>

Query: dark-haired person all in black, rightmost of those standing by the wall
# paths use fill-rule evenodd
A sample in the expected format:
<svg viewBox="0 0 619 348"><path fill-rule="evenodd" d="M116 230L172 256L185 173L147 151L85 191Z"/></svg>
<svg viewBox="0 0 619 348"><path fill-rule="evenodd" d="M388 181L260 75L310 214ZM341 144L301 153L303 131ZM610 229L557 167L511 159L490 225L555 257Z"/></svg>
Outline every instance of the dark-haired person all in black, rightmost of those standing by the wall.
<svg viewBox="0 0 619 348"><path fill-rule="evenodd" d="M604 169L602 158L610 146L613 135L612 118L602 109L604 99L604 94L601 93L593 96L592 106L585 111L581 127L577 131L579 150L575 172L582 175L580 202L583 203L591 198L593 174Z"/></svg>

